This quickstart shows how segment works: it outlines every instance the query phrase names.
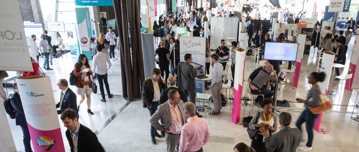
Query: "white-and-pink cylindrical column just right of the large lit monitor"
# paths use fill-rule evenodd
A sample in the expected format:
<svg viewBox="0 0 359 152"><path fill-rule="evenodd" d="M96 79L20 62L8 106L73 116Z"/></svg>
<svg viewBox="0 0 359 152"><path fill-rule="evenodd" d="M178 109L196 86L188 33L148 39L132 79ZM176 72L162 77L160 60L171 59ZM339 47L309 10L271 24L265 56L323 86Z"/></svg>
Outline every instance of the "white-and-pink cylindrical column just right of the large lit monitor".
<svg viewBox="0 0 359 152"><path fill-rule="evenodd" d="M293 80L291 82L293 87L298 87L300 68L302 67L303 52L306 43L306 37L307 34L303 34L303 33L298 34L299 44L298 44L297 60L294 62Z"/></svg>

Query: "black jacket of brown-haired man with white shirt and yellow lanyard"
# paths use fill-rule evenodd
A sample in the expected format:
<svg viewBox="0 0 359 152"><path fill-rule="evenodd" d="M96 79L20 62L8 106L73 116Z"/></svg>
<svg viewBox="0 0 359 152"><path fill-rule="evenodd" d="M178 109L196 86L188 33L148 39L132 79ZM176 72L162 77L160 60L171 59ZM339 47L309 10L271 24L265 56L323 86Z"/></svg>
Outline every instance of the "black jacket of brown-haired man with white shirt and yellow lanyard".
<svg viewBox="0 0 359 152"><path fill-rule="evenodd" d="M154 88L153 88L153 81L152 77L148 80L149 86L147 87L147 79L143 82L142 85L142 94L141 97L143 101L145 101L147 105L147 109L152 105L152 100L154 98ZM161 81L161 80L160 80ZM158 82L159 92L162 92L163 89L167 89L167 85L164 82Z"/></svg>

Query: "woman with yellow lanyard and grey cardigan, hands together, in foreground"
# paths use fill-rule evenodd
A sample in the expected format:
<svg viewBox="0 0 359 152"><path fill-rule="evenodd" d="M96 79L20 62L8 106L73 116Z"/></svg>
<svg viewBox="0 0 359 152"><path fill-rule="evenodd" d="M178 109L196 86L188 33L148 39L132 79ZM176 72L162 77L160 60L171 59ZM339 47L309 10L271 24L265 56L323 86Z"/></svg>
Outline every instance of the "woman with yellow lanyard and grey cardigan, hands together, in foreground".
<svg viewBox="0 0 359 152"><path fill-rule="evenodd" d="M258 111L254 114L251 122L248 125L248 128L265 128L269 130L269 136L272 136L274 132L278 130L278 119L275 114L272 113L274 102L270 98L265 98L261 102L261 107L263 110ZM258 134L257 140L252 139L251 147L253 147L256 152L267 152L264 137L261 134Z"/></svg>

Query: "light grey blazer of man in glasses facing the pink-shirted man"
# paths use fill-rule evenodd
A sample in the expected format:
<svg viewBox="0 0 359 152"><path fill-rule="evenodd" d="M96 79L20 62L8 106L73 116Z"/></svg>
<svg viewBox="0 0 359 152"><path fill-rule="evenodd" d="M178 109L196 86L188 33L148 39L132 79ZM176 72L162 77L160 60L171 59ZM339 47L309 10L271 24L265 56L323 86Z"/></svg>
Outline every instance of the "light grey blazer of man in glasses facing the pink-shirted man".
<svg viewBox="0 0 359 152"><path fill-rule="evenodd" d="M150 118L150 123L155 127L157 130L163 131L164 128L168 128L171 125L171 106L168 102L165 102L158 106L156 112ZM183 101L180 100L178 104L178 108L181 110L182 115L182 126L187 123L187 115L185 113L185 108L183 108ZM161 119L161 124L159 124L158 120Z"/></svg>

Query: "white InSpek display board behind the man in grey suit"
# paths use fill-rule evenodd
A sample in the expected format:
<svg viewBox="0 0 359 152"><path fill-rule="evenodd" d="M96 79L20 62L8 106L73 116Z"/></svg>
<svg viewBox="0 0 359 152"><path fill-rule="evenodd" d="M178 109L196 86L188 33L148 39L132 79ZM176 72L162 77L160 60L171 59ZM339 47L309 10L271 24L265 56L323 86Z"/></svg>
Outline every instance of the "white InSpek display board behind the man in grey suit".
<svg viewBox="0 0 359 152"><path fill-rule="evenodd" d="M206 71L206 38L205 37L180 37L180 61L185 61L185 54L192 54L193 67ZM203 81L196 80L196 93L204 93Z"/></svg>

